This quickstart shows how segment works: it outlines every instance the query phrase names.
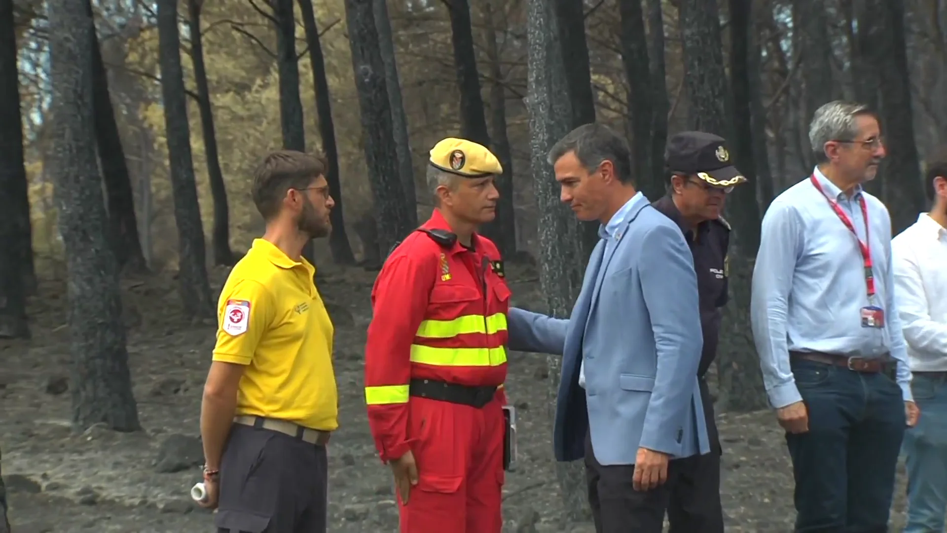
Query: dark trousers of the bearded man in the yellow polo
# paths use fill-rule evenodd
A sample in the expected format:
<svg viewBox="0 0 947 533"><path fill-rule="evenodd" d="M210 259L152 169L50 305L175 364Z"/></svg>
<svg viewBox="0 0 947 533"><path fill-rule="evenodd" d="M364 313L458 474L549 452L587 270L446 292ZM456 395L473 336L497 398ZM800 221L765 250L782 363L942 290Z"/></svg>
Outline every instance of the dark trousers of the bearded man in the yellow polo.
<svg viewBox="0 0 947 533"><path fill-rule="evenodd" d="M326 447L234 424L221 461L218 533L326 533Z"/></svg>

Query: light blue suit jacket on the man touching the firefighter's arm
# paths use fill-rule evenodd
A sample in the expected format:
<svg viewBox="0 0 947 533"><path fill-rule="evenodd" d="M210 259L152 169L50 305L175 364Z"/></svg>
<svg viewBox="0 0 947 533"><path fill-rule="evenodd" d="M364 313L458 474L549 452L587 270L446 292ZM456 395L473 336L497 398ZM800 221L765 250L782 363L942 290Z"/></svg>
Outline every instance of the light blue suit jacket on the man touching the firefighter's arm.
<svg viewBox="0 0 947 533"><path fill-rule="evenodd" d="M601 240L592 252L568 321L509 309L510 349L563 354L553 428L559 461L584 456L586 431L602 465L634 465L639 447L672 458L710 450L693 256L680 228L643 194L622 211L616 242Z"/></svg>

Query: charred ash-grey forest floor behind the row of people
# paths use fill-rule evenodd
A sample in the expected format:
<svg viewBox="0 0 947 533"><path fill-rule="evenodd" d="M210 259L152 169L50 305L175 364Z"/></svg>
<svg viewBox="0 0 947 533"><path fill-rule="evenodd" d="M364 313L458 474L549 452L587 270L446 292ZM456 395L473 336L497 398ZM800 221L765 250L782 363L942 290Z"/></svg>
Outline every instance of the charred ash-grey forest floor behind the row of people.
<svg viewBox="0 0 947 533"><path fill-rule="evenodd" d="M212 271L217 287L226 272ZM375 274L324 267L320 290L336 324L335 372L341 428L330 445L333 533L397 531L388 471L366 424L362 349ZM536 274L509 267L514 303L540 307ZM33 340L0 341L0 449L15 533L213 531L212 515L188 489L200 479L195 457L201 389L214 326L184 322L172 280L123 282L129 354L143 432L69 427L70 363L62 282L33 299ZM545 357L512 353L508 390L519 406L519 463L505 487L509 532L591 532L559 521L549 436ZM792 530L793 480L771 413L719 416L724 440L723 499L729 532ZM169 441L170 439L170 441ZM183 469L173 473L157 470ZM903 477L892 512L903 523Z"/></svg>

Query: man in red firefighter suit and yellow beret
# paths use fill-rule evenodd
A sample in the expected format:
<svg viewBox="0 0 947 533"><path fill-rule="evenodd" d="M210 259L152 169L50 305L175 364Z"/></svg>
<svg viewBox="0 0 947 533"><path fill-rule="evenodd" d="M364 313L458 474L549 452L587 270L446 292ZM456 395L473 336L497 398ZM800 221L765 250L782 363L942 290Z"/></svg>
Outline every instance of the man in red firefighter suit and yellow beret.
<svg viewBox="0 0 947 533"><path fill-rule="evenodd" d="M500 533L509 287L476 228L496 216L502 168L445 138L427 182L437 209L394 248L372 289L368 423L392 469L402 533Z"/></svg>

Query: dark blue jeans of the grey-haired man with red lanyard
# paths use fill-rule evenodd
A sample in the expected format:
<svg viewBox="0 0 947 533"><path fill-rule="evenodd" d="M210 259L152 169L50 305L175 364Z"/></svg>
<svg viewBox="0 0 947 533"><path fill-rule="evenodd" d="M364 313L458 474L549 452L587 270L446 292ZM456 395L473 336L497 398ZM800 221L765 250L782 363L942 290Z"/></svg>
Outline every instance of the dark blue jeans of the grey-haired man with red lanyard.
<svg viewBox="0 0 947 533"><path fill-rule="evenodd" d="M797 533L885 533L904 436L901 388L884 374L793 359L809 432L787 433Z"/></svg>

